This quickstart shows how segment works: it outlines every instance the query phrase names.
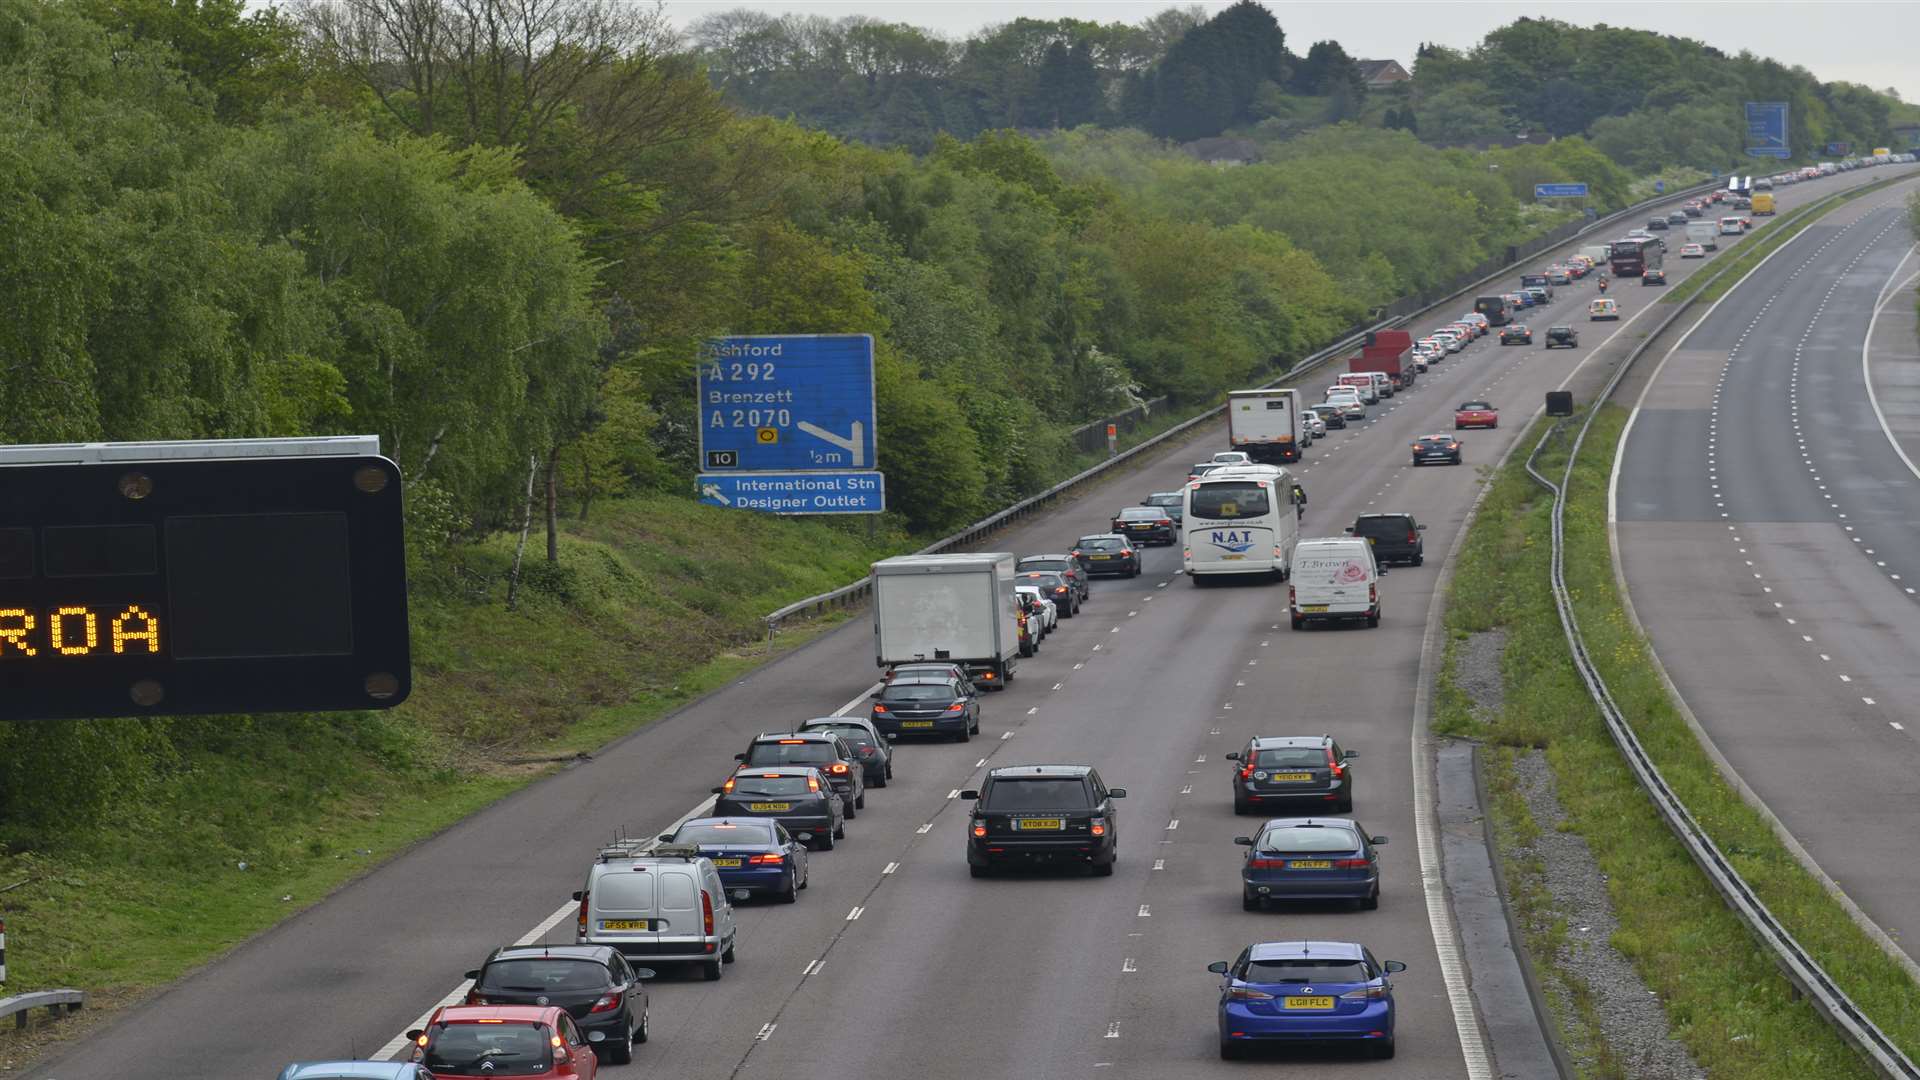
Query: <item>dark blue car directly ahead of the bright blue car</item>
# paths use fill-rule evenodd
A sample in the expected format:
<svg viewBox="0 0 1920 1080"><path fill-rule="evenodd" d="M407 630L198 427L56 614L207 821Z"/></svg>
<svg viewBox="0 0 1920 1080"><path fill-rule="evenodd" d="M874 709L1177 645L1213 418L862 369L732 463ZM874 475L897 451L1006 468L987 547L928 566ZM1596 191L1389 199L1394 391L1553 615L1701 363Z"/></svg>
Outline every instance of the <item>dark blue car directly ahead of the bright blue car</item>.
<svg viewBox="0 0 1920 1080"><path fill-rule="evenodd" d="M1246 847L1240 865L1240 907L1258 911L1271 899L1352 899L1380 905L1384 836L1367 836L1344 817L1277 817L1254 836L1235 836Z"/></svg>

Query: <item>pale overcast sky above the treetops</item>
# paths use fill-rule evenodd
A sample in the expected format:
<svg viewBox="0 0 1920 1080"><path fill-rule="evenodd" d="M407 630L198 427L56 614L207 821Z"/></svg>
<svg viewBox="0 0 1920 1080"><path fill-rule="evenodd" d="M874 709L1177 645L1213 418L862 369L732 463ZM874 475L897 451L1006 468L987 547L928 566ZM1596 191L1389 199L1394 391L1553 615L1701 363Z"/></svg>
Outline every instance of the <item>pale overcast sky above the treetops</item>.
<svg viewBox="0 0 1920 1080"><path fill-rule="evenodd" d="M1206 0L1219 12L1231 0ZM1261 0L1286 31L1286 46L1306 54L1315 40L1334 38L1350 56L1398 60L1411 67L1423 40L1457 48L1473 46L1486 31L1521 15L1551 15L1569 23L1605 21L1667 35L1690 37L1724 52L1751 50L1782 63L1799 63L1824 81L1845 79L1874 88L1893 86L1903 100L1920 102L1920 2L1820 4L1757 0L1668 0L1609 4L1478 4L1448 0ZM797 12L808 15L876 15L916 23L945 37L966 37L1020 15L1037 19L1075 17L1133 23L1173 4L1167 0L666 0L682 25L730 8ZM1185 4L1183 4L1185 6Z"/></svg>

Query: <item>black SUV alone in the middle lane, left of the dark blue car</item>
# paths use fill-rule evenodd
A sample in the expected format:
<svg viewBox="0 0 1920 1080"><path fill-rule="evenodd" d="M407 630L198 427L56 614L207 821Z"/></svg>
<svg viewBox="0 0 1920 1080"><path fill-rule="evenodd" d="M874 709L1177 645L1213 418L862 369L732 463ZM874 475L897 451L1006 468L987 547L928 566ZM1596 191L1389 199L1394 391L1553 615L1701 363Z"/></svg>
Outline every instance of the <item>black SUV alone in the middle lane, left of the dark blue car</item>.
<svg viewBox="0 0 1920 1080"><path fill-rule="evenodd" d="M1114 799L1091 765L1010 765L987 773L968 819L966 865L975 878L1018 863L1079 863L1096 876L1114 874L1119 847Z"/></svg>

